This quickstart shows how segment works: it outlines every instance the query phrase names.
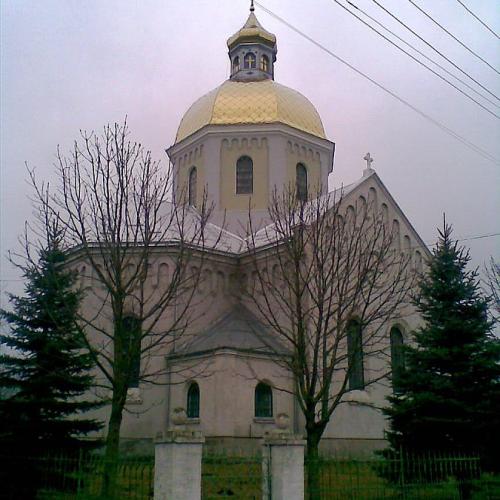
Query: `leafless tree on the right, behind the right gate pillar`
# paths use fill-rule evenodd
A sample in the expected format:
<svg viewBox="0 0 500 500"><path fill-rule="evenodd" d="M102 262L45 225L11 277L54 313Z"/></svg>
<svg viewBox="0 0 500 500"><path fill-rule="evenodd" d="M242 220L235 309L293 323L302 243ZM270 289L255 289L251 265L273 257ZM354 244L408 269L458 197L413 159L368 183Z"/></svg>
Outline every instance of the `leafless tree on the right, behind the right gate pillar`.
<svg viewBox="0 0 500 500"><path fill-rule="evenodd" d="M248 238L255 283L247 299L289 350L274 354L295 379L314 496L318 446L335 409L347 391L388 375L383 362L364 376L363 358L387 356L387 323L404 313L414 273L384 215L349 205L341 190L309 201L275 192L269 217Z"/></svg>

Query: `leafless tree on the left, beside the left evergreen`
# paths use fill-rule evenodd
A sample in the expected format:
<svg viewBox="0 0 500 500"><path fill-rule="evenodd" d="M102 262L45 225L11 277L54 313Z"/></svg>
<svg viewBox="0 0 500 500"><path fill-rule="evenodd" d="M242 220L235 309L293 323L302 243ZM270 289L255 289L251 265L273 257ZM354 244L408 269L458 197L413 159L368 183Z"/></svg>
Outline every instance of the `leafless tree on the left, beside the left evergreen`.
<svg viewBox="0 0 500 500"><path fill-rule="evenodd" d="M38 203L64 227L86 285L79 325L110 394L113 463L131 385L161 381L164 355L193 320L210 210L205 198L197 210L169 202L171 169L129 140L126 122L106 126L101 137L82 132L69 156L58 150L56 168L58 185L48 195L31 178ZM155 267L159 255L168 258L163 270Z"/></svg>

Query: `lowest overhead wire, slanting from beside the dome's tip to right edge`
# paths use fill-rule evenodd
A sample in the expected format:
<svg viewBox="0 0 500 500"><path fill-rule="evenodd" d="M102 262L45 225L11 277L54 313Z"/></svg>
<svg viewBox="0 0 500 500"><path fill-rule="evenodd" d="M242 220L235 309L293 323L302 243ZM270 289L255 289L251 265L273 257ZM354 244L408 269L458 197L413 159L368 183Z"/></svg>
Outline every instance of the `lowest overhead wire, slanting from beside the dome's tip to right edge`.
<svg viewBox="0 0 500 500"><path fill-rule="evenodd" d="M432 118L428 114L424 113L423 111L420 111L420 109L418 109L415 106L413 106L411 103L409 103L408 101L406 101L405 99L403 99L402 97L400 97L399 95L397 95L396 93L394 93L392 90L389 90L388 88L384 87L382 84L378 83L376 80L374 80L373 78L371 78L370 76L368 76L366 73L363 73L361 70L357 69L355 66L353 66L350 63L348 63L346 60L342 59L340 56L338 56L337 54L335 54L330 49L326 48L324 45L322 45L321 43L317 42L313 38L311 38L309 35L307 35L303 31L299 30L298 28L296 28L295 26L293 26L292 24L290 24L288 21L285 21L282 17L278 16L273 11L269 10L267 7L265 7L264 5L262 5L260 2L256 1L255 3L264 12L266 12L267 14L269 14L271 17L273 17L274 19L276 19L280 23L284 24L285 26L287 26L288 28L290 28L292 31L295 31L295 33L297 33L298 35L302 36L303 38L305 38L306 40L308 40L309 42L311 42L313 45L316 45L316 47L320 48L321 50L323 50L324 52L326 52L327 54L329 54L331 57L333 57L337 61L339 61L342 64L344 64L345 66L347 66L349 69L351 69L352 71L354 71L358 75L360 75L363 78L367 79L370 83L372 83L373 85L375 85L379 89L383 90L384 92L386 92L387 94L389 94L391 97L393 97L394 99L398 100L400 103L404 104L406 107L410 108L415 113L419 114L421 117L423 117L426 120L430 121L436 127L439 127L441 130L443 130L447 134L449 134L452 137L454 137L457 141L461 142L462 144L464 144L465 146L467 146L469 149L472 149L477 154L479 154L483 158L489 160L490 162L492 162L492 163L494 163L496 165L500 165L500 160L498 158L495 158L493 155L491 155L490 153L488 153L484 149L480 148L479 146L476 146L474 143L470 142L465 137L461 136L457 132L453 131L451 128L449 128L446 125L442 124L441 122L435 120L434 118Z"/></svg>

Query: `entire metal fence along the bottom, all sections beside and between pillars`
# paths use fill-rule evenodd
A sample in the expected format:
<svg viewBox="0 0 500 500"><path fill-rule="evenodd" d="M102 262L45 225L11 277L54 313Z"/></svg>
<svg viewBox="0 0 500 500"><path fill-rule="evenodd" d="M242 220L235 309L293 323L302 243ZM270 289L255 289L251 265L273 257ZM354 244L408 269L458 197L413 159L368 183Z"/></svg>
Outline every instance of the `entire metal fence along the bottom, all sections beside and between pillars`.
<svg viewBox="0 0 500 500"><path fill-rule="evenodd" d="M106 461L97 454L78 457L0 456L0 498L55 500L150 500L154 493L153 457L121 459L115 465L113 496L103 496ZM314 490L307 477L306 498L314 499L500 499L500 477L481 472L478 457L401 455L375 460L322 457ZM204 453L202 499L262 498L262 456ZM7 471L15 471L7 473ZM3 473L3 474L2 474Z"/></svg>

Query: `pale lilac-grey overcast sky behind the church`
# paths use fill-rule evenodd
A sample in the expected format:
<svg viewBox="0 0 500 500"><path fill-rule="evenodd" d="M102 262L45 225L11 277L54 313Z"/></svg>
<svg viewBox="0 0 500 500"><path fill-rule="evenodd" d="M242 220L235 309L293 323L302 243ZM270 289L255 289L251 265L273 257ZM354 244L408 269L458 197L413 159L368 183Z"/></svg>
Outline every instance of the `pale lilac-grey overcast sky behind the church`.
<svg viewBox="0 0 500 500"><path fill-rule="evenodd" d="M260 1L500 159L497 118L399 53L333 0ZM437 57L372 0L353 1ZM498 0L463 1L500 33ZM407 0L379 2L500 96L499 75ZM500 68L499 39L456 0L415 2ZM228 78L226 40L245 22L248 5L247 0L1 0L3 305L5 290L21 290L17 271L5 254L16 248L23 223L31 217L25 162L36 167L39 178L51 180L57 145L67 151L80 129L100 130L127 115L133 138L166 165L164 150L173 143L183 113ZM359 178L362 158L369 151L375 159L372 166L424 241L435 241L443 212L457 238L500 232L498 163L447 135L258 6L256 14L278 39L276 80L312 101L328 138L336 143L332 185ZM500 114L498 107L488 106ZM464 244L470 247L475 265L491 255L499 258L498 236Z"/></svg>

